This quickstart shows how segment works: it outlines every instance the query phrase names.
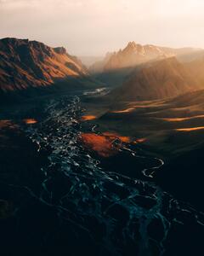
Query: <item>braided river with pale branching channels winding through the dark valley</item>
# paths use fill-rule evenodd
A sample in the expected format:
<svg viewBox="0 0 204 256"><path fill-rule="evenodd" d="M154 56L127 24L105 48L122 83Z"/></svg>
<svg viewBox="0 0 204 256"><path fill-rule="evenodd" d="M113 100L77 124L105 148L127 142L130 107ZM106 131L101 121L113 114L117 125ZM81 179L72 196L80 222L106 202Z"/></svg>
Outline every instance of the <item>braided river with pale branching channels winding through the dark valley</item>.
<svg viewBox="0 0 204 256"><path fill-rule="evenodd" d="M190 250L200 249L203 214L162 191L153 179L142 178L152 176L162 160L124 143L120 154L124 161L130 155L135 159L131 168L140 172L139 178L107 170L79 142L84 132L79 97L53 100L44 111L45 119L26 128L39 154L48 152L48 165L42 168L42 183L35 196L57 209L64 227L69 223L67 229L75 234L73 243L78 245L71 255L192 255ZM89 129L94 131L93 126ZM124 165L128 169L128 161ZM69 248L61 247L59 255Z"/></svg>

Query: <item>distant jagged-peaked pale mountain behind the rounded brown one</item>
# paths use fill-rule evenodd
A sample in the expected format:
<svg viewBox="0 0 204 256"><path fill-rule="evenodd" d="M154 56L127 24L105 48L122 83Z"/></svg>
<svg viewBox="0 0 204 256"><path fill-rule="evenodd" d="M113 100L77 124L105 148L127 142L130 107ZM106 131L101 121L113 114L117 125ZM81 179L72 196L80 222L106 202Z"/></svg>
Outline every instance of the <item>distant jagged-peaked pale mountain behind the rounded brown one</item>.
<svg viewBox="0 0 204 256"><path fill-rule="evenodd" d="M171 56L180 57L180 61L192 61L196 59L197 52L200 51L201 49L173 49L152 44L142 45L129 42L124 49L108 53L103 61L94 63L89 67L89 72L105 84L117 87L128 77L134 67Z"/></svg>

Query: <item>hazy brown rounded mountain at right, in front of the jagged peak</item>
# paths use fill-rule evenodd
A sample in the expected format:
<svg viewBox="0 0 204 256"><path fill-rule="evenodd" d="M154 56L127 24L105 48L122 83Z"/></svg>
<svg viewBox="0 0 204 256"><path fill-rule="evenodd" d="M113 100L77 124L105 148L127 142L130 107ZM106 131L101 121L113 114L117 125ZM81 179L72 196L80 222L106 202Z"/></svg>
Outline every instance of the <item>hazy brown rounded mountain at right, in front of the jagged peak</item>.
<svg viewBox="0 0 204 256"><path fill-rule="evenodd" d="M198 68L200 69L198 70ZM134 69L122 84L111 92L117 101L155 100L184 94L204 88L204 61L198 67L194 62L180 63L175 57L152 61ZM201 77L198 74L201 73Z"/></svg>

